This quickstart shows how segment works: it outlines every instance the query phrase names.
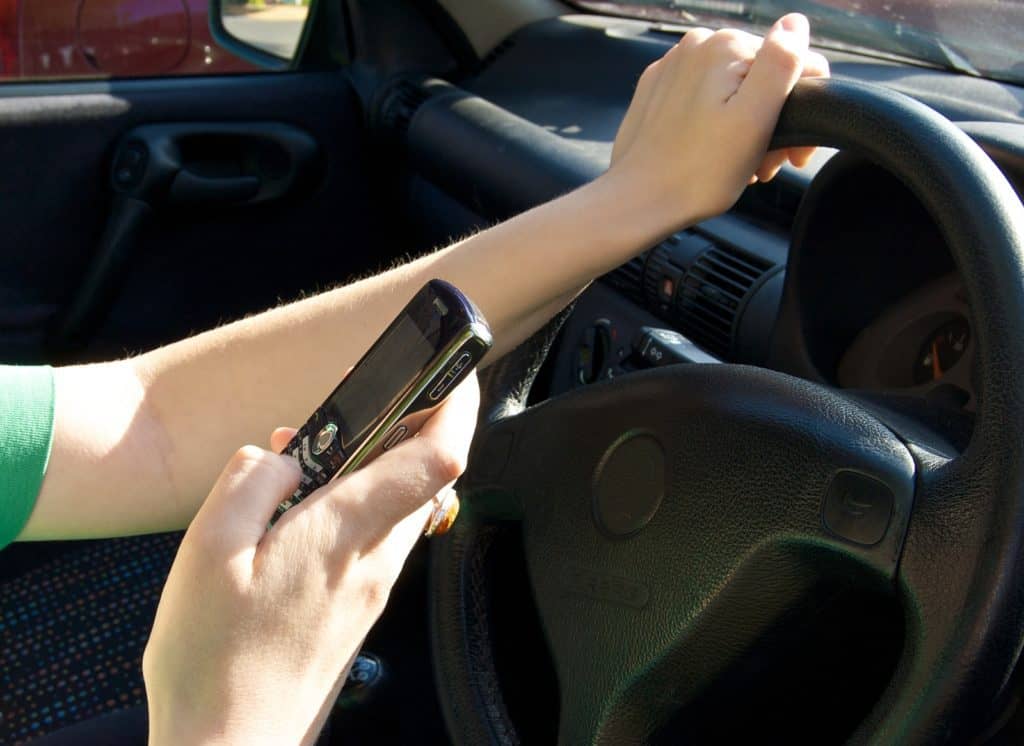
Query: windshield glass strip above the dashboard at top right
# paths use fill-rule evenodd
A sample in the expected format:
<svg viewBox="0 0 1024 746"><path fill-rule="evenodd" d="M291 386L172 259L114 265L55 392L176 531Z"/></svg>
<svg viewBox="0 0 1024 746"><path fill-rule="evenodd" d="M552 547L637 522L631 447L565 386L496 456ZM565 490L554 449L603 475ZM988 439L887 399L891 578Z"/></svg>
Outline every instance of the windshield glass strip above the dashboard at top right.
<svg viewBox="0 0 1024 746"><path fill-rule="evenodd" d="M1024 82L1024 0L632 0L595 10L687 24L715 20L764 31L800 11L816 41Z"/></svg>

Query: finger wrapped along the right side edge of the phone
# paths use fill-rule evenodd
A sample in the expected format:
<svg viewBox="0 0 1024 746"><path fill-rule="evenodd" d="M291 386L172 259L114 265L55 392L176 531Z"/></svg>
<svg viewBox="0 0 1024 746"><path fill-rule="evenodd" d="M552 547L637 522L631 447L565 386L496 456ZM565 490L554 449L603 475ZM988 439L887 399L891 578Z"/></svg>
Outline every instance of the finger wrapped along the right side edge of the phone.
<svg viewBox="0 0 1024 746"><path fill-rule="evenodd" d="M470 376L418 437L325 487L324 498L310 506L325 514L317 516L318 521L337 525L339 544L353 540L364 547L375 544L462 474L478 407L479 387L476 377Z"/></svg>

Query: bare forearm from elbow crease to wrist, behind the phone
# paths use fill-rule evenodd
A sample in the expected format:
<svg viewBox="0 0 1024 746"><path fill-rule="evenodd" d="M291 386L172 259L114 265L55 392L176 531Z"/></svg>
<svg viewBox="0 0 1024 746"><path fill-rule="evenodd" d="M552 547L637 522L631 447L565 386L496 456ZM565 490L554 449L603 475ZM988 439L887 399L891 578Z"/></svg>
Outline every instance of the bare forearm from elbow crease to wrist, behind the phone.
<svg viewBox="0 0 1024 746"><path fill-rule="evenodd" d="M147 399L172 444L177 502L201 498L241 443L301 425L427 280L460 288L504 354L540 313L641 251L654 221L627 214L596 182L453 247L306 301L214 330L138 359Z"/></svg>

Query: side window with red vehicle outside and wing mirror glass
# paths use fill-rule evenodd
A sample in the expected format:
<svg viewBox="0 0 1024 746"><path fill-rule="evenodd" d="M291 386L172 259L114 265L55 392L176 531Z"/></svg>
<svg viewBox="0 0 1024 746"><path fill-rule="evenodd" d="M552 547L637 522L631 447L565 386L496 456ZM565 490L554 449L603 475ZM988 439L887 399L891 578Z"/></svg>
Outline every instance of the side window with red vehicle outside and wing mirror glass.
<svg viewBox="0 0 1024 746"><path fill-rule="evenodd" d="M289 59L309 0L223 0L224 27ZM0 0L0 81L262 72L220 47L209 0Z"/></svg>

